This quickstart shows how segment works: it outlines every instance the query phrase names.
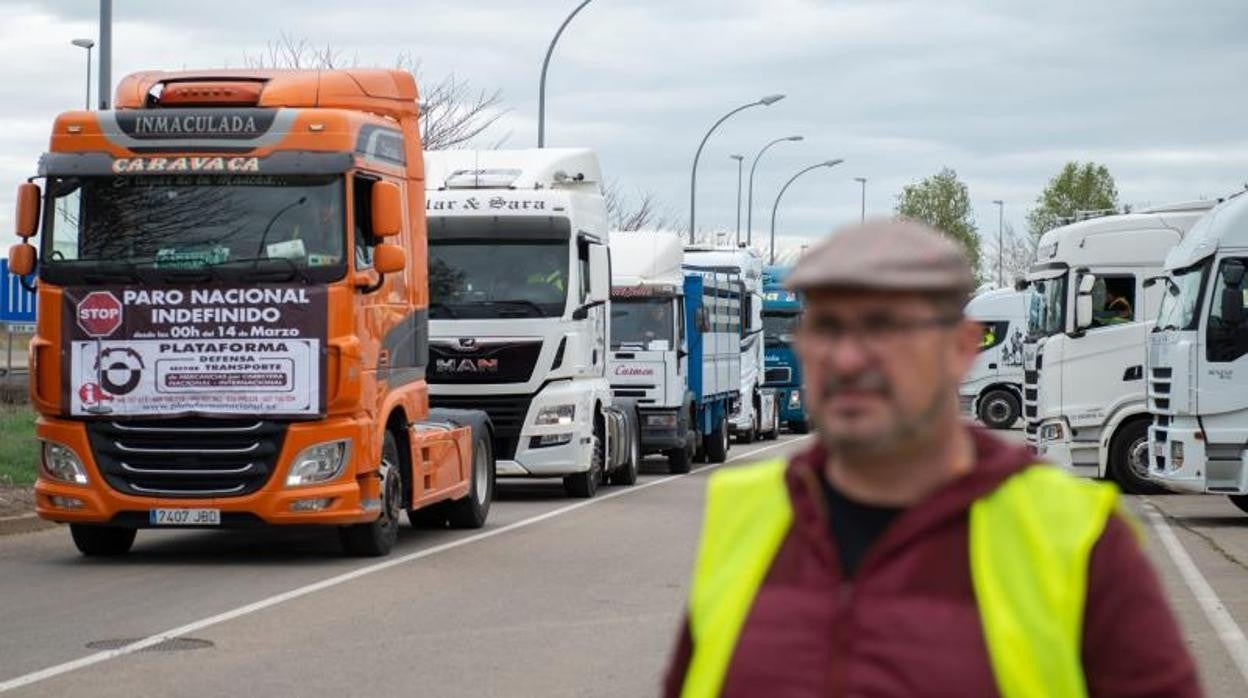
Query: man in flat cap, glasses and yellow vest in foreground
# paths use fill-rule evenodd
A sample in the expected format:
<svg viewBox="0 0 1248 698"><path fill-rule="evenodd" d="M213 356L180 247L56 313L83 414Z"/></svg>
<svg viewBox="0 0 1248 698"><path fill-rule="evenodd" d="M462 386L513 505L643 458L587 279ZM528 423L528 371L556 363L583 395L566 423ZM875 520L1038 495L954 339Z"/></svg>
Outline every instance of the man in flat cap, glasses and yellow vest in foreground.
<svg viewBox="0 0 1248 698"><path fill-rule="evenodd" d="M789 276L819 443L711 476L668 696L1198 696L1112 486L961 423L961 250L844 230Z"/></svg>

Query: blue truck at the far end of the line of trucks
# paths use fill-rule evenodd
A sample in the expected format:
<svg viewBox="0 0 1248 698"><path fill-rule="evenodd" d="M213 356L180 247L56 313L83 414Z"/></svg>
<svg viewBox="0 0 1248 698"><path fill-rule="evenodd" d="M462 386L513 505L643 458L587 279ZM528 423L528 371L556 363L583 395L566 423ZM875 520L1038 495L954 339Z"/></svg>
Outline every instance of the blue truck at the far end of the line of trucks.
<svg viewBox="0 0 1248 698"><path fill-rule="evenodd" d="M801 368L792 348L792 333L801 317L801 298L784 287L789 267L763 270L763 338L765 368L763 385L776 391L780 421L794 433L810 431L801 396Z"/></svg>

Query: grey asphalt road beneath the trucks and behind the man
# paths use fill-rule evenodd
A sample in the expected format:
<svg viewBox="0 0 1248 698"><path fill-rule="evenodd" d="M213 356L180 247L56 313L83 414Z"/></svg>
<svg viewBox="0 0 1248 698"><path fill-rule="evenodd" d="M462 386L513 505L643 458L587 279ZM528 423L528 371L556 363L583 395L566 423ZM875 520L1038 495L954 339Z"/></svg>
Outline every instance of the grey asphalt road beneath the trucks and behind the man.
<svg viewBox="0 0 1248 698"><path fill-rule="evenodd" d="M644 474L589 501L512 483L483 531L404 529L381 562L317 532L141 532L124 561L80 558L65 529L4 537L0 692L650 696L706 473ZM1248 516L1222 497L1131 506L1208 694L1248 694Z"/></svg>

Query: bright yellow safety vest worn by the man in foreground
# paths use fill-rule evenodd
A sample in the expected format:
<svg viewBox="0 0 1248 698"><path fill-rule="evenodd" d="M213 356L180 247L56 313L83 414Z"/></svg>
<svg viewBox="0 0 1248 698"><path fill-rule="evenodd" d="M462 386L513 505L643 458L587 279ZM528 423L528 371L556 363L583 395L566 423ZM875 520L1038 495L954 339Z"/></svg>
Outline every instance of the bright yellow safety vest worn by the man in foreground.
<svg viewBox="0 0 1248 698"><path fill-rule="evenodd" d="M789 533L785 462L710 478L689 599L685 698L719 696L745 618ZM1083 697L1081 641L1092 546L1117 506L1112 484L1031 466L971 506L971 581L1006 698Z"/></svg>

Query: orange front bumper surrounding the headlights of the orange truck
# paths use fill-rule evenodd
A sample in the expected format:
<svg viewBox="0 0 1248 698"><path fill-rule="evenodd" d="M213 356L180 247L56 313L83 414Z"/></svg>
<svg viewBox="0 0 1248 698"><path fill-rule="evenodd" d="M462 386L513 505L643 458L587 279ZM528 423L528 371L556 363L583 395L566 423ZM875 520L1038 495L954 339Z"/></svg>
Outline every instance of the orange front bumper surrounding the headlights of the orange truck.
<svg viewBox="0 0 1248 698"><path fill-rule="evenodd" d="M376 468L363 469L359 463L374 438L364 420L334 418L314 423L292 423L286 431L275 469L258 491L240 497L157 497L135 496L115 489L104 478L91 451L82 422L40 417L35 433L44 442L57 443L74 451L86 473L85 484L71 484L50 478L40 468L35 483L35 512L57 523L112 523L146 527L149 514L157 508L212 508L221 512L221 528L261 524L280 526L342 526L367 523L381 512L379 483ZM336 440L349 440L351 452L342 473L324 483L286 487L291 461L310 446ZM40 456L42 457L42 456ZM321 501L316 511L295 511L296 502Z"/></svg>

